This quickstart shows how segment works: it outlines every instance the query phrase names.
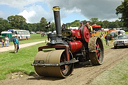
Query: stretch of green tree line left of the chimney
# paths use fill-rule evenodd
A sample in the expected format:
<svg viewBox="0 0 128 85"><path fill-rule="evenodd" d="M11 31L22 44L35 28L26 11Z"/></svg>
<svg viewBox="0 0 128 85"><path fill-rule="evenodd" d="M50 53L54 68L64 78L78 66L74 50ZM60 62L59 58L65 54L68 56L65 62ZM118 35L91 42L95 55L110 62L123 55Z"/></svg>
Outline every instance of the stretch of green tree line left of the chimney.
<svg viewBox="0 0 128 85"><path fill-rule="evenodd" d="M45 29L47 20L42 17L39 23L27 23L26 19L21 15L9 16L6 19L0 18L0 32L8 29L22 29L29 31L48 31ZM53 23L52 23L53 24Z"/></svg>

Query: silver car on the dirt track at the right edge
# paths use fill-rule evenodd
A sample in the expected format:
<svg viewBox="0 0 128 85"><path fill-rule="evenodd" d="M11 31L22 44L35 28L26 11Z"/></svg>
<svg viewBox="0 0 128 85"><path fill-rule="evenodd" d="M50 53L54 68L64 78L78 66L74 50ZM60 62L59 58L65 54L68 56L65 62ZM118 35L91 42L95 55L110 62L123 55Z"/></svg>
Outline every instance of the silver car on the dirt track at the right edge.
<svg viewBox="0 0 128 85"><path fill-rule="evenodd" d="M114 41L114 48L128 46L128 35L119 35Z"/></svg>

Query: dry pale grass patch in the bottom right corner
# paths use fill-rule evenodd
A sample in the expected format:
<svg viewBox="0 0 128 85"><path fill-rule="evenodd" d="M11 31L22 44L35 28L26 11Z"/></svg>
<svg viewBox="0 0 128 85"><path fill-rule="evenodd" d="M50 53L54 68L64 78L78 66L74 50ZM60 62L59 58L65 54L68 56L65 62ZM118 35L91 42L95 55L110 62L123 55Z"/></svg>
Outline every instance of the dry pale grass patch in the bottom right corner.
<svg viewBox="0 0 128 85"><path fill-rule="evenodd" d="M98 76L92 85L128 85L128 58Z"/></svg>

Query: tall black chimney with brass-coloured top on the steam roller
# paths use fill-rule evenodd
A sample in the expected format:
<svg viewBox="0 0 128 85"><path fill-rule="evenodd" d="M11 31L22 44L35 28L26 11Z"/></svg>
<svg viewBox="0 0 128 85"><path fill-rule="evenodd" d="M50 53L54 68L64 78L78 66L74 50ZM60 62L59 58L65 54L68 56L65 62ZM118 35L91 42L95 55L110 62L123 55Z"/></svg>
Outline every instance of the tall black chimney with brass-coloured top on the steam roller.
<svg viewBox="0 0 128 85"><path fill-rule="evenodd" d="M54 12L54 20L55 20L55 26L56 26L56 34L57 34L57 37L61 37L62 32L61 32L60 8L59 8L59 6L54 6L53 7L53 12Z"/></svg>

